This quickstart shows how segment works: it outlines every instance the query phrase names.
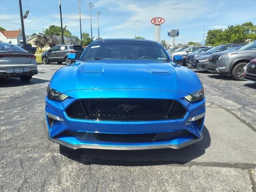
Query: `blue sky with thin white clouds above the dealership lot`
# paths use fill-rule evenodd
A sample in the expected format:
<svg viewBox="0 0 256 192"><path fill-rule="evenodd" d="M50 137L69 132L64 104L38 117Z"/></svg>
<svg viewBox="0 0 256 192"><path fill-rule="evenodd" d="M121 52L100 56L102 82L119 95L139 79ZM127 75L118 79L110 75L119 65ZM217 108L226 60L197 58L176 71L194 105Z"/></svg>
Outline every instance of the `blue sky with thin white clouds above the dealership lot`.
<svg viewBox="0 0 256 192"><path fill-rule="evenodd" d="M100 11L101 38L134 38L141 36L154 40L154 17L165 19L161 25L161 40L171 42L168 29L179 29L175 44L201 42L208 30L224 29L229 25L253 22L256 24L254 0L81 0L82 32L90 34L90 8L92 2L92 34L98 36L97 12ZM80 37L78 0L61 0L63 26ZM22 0L25 34L43 32L50 25L60 26L59 0ZM18 0L0 0L0 26L6 30L18 30L20 10Z"/></svg>

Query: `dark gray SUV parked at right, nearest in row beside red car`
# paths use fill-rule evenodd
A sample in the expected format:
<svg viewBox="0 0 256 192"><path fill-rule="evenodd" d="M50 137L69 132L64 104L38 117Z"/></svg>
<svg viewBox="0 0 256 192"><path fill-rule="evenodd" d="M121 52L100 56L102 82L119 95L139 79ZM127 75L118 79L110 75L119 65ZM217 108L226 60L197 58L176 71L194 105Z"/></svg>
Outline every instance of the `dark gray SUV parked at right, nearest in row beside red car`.
<svg viewBox="0 0 256 192"><path fill-rule="evenodd" d="M256 58L256 41L236 51L224 51L210 56L207 71L219 75L231 75L235 80L243 80L244 67Z"/></svg>

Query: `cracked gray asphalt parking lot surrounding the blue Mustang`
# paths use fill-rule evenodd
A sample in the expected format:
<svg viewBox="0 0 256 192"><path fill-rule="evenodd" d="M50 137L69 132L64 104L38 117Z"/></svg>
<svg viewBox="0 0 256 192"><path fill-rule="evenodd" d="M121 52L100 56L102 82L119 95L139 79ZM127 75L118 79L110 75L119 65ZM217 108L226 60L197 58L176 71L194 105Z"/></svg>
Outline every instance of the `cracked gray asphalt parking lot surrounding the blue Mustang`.
<svg viewBox="0 0 256 192"><path fill-rule="evenodd" d="M65 150L46 134L44 97L63 65L0 83L1 191L256 192L256 84L197 72L206 94L202 141L180 150Z"/></svg>

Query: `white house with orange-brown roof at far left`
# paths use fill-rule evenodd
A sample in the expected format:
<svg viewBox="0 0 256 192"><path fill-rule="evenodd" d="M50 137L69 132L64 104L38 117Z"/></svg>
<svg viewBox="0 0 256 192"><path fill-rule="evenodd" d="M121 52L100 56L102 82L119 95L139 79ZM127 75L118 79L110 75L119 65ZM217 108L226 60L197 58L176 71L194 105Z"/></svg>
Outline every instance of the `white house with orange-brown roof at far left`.
<svg viewBox="0 0 256 192"><path fill-rule="evenodd" d="M20 44L23 43L21 30L0 31L0 42Z"/></svg>

